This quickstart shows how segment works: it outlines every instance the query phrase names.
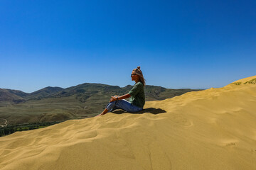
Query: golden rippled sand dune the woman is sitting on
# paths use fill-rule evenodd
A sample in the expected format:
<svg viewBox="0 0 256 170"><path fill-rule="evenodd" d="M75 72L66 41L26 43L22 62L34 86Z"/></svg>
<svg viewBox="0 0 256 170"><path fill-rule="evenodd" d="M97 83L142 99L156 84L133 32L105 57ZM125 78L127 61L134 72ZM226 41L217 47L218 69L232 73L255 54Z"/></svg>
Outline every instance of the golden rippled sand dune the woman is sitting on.
<svg viewBox="0 0 256 170"><path fill-rule="evenodd" d="M254 79L146 102L166 113L15 132L0 138L0 169L256 169Z"/></svg>

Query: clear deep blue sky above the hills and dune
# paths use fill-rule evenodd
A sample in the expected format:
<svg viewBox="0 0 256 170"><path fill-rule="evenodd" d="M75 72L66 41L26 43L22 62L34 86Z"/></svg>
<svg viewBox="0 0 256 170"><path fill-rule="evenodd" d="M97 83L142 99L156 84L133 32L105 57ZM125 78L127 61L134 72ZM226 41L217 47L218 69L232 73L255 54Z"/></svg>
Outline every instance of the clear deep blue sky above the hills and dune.
<svg viewBox="0 0 256 170"><path fill-rule="evenodd" d="M0 1L0 88L221 87L256 75L256 1Z"/></svg>

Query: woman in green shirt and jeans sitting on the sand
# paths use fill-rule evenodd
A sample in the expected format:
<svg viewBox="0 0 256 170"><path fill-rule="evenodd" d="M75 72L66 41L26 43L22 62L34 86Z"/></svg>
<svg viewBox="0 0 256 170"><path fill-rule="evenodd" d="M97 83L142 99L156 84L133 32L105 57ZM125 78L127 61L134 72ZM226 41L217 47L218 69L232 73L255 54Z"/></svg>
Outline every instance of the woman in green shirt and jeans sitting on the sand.
<svg viewBox="0 0 256 170"><path fill-rule="evenodd" d="M123 96L111 96L110 103L107 104L105 110L100 113L100 115L105 115L106 113L112 112L116 109L122 109L127 112L142 111L145 104L145 79L140 67L132 70L131 77L132 81L135 81L132 90ZM124 98L129 98L129 101L124 100Z"/></svg>

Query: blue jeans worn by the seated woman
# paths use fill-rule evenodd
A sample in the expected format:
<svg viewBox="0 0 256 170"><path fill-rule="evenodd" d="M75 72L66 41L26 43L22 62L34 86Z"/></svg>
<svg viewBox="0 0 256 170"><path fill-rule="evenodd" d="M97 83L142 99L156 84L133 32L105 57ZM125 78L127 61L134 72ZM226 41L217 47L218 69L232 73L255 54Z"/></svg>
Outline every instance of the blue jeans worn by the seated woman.
<svg viewBox="0 0 256 170"><path fill-rule="evenodd" d="M124 99L118 100L118 101L112 101L107 104L106 106L108 112L112 112L116 109L122 109L127 112L137 112L142 111L143 108L139 108L138 106L132 105L132 103L129 103L129 101L126 101Z"/></svg>

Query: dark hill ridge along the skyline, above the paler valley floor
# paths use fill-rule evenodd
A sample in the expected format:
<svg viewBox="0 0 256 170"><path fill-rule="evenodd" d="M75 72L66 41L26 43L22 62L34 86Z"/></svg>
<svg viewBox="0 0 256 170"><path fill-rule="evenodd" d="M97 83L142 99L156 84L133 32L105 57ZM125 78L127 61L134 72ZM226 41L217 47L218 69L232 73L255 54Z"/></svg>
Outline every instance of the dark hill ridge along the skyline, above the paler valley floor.
<svg viewBox="0 0 256 170"><path fill-rule="evenodd" d="M0 102L1 101L13 101L14 103L20 103L31 99L43 99L43 98L60 98L76 95L77 99L81 102L85 102L87 98L95 94L102 95L122 95L127 94L132 89L131 85L125 87L110 86L107 84L79 84L77 86L71 86L66 89L60 87L51 87L34 91L31 94L23 91L0 89ZM184 94L188 91L199 91L201 89L166 89L161 86L149 86L144 88L146 101L164 100ZM110 96L109 96L110 97Z"/></svg>

